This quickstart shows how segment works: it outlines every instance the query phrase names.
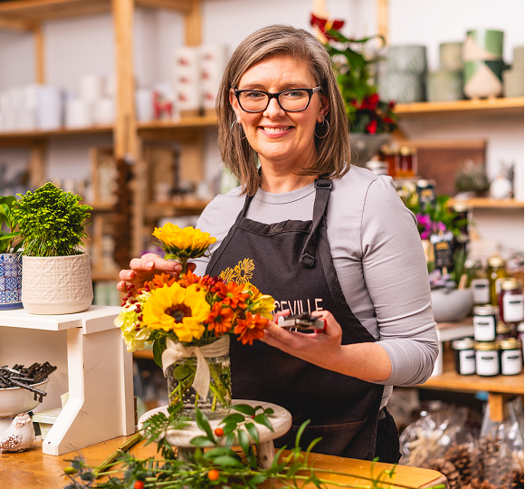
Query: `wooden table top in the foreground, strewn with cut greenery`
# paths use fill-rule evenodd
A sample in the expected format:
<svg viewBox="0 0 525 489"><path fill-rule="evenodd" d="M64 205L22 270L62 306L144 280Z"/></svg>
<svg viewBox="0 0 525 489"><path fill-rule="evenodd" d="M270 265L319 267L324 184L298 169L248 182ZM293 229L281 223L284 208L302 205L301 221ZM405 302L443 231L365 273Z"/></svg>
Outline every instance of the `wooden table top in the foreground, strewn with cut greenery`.
<svg viewBox="0 0 525 489"><path fill-rule="evenodd" d="M63 489L68 484L68 479L63 475L64 467L70 465L75 456L82 455L86 462L92 466L100 465L111 453L121 446L130 436L119 436L97 445L82 448L79 451L65 455L44 455L42 442L34 442L26 452L0 454L0 487L3 489ZM148 458L157 455L156 444L144 446L144 441L139 442L130 449L130 452L139 458ZM284 452L286 454L286 452ZM330 469L345 474L370 476L370 462L341 458L338 456L310 454L311 463L320 469ZM375 475L392 465L377 463ZM367 481L358 477L347 475L322 475L334 483L363 484ZM102 482L104 479L100 478ZM387 482L392 485L403 484L414 488L432 487L444 484L444 475L434 470L407 467L398 465L392 480ZM310 487L308 485L307 487ZM313 485L312 485L313 487Z"/></svg>

